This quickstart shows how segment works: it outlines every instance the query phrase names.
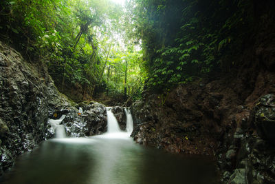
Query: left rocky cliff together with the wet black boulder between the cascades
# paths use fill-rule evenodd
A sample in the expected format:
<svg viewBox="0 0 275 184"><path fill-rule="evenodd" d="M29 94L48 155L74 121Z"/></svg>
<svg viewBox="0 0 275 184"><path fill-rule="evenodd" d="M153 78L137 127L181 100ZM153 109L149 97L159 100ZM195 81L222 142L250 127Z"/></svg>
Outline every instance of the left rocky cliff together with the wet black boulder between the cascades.
<svg viewBox="0 0 275 184"><path fill-rule="evenodd" d="M106 108L96 102L72 105L61 95L41 63L28 63L0 42L0 175L23 152L54 136L48 119L65 114L67 136L107 130ZM84 112L78 114L78 108Z"/></svg>

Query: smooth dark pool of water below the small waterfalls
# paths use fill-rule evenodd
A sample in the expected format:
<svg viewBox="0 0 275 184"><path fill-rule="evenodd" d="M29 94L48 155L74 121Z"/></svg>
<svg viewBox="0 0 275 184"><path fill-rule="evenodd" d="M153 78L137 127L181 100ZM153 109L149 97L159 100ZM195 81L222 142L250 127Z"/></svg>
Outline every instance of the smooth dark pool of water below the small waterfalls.
<svg viewBox="0 0 275 184"><path fill-rule="evenodd" d="M53 139L19 157L1 183L218 183L214 161L166 154L130 139Z"/></svg>

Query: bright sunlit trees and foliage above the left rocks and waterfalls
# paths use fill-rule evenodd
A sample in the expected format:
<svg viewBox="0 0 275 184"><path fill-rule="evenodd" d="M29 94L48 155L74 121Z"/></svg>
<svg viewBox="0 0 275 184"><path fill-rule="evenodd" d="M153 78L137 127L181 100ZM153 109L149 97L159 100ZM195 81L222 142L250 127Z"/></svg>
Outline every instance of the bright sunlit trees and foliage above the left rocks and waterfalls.
<svg viewBox="0 0 275 184"><path fill-rule="evenodd" d="M5 0L0 6L1 39L26 59L47 63L58 89L72 99L102 92L133 96L142 88L137 80L141 54L124 43L120 5L108 0Z"/></svg>

